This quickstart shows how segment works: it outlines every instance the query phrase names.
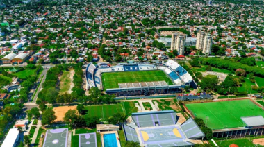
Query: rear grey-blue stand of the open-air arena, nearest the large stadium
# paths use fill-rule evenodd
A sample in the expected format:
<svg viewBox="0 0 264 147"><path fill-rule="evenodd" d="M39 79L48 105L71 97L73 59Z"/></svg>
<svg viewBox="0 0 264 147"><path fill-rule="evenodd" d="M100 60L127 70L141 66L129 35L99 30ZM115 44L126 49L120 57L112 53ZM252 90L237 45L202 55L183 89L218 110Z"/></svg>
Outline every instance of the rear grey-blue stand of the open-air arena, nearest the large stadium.
<svg viewBox="0 0 264 147"><path fill-rule="evenodd" d="M138 127L167 126L176 124L176 112L173 110L133 113L132 118Z"/></svg>

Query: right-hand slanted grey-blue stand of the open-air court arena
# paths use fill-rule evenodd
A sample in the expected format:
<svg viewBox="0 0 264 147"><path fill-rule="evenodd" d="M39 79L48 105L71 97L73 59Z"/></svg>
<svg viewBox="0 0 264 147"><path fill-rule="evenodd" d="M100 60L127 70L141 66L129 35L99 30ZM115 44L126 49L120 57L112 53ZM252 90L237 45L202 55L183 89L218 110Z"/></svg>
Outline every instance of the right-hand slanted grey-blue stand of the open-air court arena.
<svg viewBox="0 0 264 147"><path fill-rule="evenodd" d="M183 130L186 137L188 137L189 139L197 139L204 137L204 132L201 131L199 126L191 117L183 124L181 124L181 129Z"/></svg>

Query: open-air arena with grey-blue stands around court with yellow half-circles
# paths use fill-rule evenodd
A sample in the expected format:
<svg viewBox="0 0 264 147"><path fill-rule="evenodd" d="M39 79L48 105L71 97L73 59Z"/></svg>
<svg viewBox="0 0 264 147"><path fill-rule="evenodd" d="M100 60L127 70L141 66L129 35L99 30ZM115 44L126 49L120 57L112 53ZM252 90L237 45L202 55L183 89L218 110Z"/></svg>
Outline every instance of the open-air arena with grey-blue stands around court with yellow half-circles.
<svg viewBox="0 0 264 147"><path fill-rule="evenodd" d="M126 141L138 141L147 147L194 146L195 139L203 139L195 121L190 118L177 123L173 110L133 113L130 123L123 123Z"/></svg>

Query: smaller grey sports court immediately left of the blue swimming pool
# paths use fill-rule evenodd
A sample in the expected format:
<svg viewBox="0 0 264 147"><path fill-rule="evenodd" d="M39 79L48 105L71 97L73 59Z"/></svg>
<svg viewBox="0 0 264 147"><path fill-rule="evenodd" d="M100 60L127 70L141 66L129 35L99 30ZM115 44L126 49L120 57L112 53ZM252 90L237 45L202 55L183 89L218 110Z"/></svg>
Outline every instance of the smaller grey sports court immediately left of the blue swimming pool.
<svg viewBox="0 0 264 147"><path fill-rule="evenodd" d="M97 147L96 133L85 133L79 135L79 147Z"/></svg>

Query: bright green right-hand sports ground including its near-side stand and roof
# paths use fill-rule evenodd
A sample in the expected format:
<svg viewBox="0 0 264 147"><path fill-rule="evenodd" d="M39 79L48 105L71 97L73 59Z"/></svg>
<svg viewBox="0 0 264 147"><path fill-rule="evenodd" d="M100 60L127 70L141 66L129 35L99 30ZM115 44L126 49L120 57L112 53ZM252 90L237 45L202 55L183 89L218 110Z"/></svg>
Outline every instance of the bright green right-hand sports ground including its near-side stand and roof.
<svg viewBox="0 0 264 147"><path fill-rule="evenodd" d="M264 133L264 107L251 99L188 103L184 107L193 118L203 119L216 138L239 138Z"/></svg>

